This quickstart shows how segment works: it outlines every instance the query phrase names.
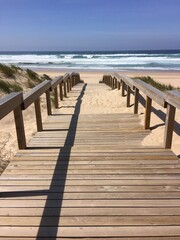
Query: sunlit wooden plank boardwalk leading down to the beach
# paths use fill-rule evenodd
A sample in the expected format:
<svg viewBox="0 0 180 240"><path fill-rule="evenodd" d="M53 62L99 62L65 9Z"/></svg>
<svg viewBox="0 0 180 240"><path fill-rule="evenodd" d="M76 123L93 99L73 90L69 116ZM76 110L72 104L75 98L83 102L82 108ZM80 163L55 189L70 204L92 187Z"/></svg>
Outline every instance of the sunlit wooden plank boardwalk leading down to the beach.
<svg viewBox="0 0 180 240"><path fill-rule="evenodd" d="M142 146L138 115L81 114L89 89L0 177L0 239L180 239L178 158Z"/></svg>

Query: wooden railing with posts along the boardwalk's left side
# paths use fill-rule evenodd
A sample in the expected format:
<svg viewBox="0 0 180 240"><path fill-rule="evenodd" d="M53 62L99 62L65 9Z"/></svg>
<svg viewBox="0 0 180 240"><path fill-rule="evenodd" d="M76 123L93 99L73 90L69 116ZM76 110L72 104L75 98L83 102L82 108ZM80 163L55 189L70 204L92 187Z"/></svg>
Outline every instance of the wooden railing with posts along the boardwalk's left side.
<svg viewBox="0 0 180 240"><path fill-rule="evenodd" d="M17 141L19 149L26 148L26 136L24 129L23 110L34 103L37 131L43 130L40 96L46 94L47 114L52 114L50 92L54 91L55 108L59 106L59 99L62 101L67 97L67 93L72 87L80 82L78 73L65 74L53 81L45 80L28 93L13 92L0 99L0 119L4 118L10 112L14 112L14 121L16 126ZM58 97L59 87L59 97Z"/></svg>

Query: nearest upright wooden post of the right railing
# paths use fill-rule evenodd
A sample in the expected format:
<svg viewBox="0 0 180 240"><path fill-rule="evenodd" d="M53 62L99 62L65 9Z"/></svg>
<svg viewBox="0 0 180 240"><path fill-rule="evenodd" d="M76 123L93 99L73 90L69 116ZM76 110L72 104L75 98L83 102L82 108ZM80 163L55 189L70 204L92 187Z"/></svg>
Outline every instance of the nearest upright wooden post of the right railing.
<svg viewBox="0 0 180 240"><path fill-rule="evenodd" d="M165 148L171 148L171 145L172 145L175 112L176 112L176 108L171 104L167 104L165 133L164 133Z"/></svg>

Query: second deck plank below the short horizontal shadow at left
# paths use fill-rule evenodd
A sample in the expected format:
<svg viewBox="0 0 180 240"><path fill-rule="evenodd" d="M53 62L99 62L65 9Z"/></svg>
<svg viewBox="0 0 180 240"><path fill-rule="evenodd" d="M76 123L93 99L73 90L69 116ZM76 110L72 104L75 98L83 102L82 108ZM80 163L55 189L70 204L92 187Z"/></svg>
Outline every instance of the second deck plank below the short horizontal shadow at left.
<svg viewBox="0 0 180 240"><path fill-rule="evenodd" d="M42 216L44 208L0 208L1 216ZM57 208L47 208L47 216L59 216ZM61 208L61 216L180 216L179 207L136 208L136 207L98 207Z"/></svg>

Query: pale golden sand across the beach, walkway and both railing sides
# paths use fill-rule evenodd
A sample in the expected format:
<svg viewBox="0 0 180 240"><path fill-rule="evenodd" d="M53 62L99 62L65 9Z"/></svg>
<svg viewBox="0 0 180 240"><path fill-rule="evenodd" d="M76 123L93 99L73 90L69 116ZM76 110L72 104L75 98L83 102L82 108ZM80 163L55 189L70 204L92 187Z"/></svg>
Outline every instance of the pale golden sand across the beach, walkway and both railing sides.
<svg viewBox="0 0 180 240"><path fill-rule="evenodd" d="M51 77L63 75L64 72L60 71L38 71L39 74L46 73ZM81 79L87 83L87 90L92 92L92 97L86 94L83 97L83 102L81 105L81 113L122 113L122 112L133 112L133 107L126 108L126 98L121 97L121 92L117 89L111 90L108 86L103 85L102 88L99 87L99 81L102 80L102 76L105 72L81 72ZM155 80L165 83L172 84L173 86L180 86L180 72L121 72L121 74L126 74L128 76L152 76ZM132 97L133 103L133 97ZM45 105L44 101L42 100ZM72 113L73 108L71 108L71 98L63 101L61 111L62 113ZM155 113L151 116L151 134L147 136L144 141L144 146L161 146L163 144L164 135L164 117L166 109L161 108L158 104L153 102L153 107L156 109L156 114L161 116L161 119L157 117ZM144 122L144 108L140 105L139 114L141 122ZM28 110L23 113L25 119L25 130L27 141L36 132L34 107L33 105L28 108ZM43 119L47 116L46 109L43 107ZM180 122L180 110L176 111L175 117L175 132L173 134L173 145L172 150L176 155L180 154L180 138L179 138L179 122ZM6 165L7 160L11 159L17 151L16 143L16 132L13 120L13 114L9 114L4 119L0 121L0 154L1 154L1 165ZM1 168L0 168L1 171Z"/></svg>

